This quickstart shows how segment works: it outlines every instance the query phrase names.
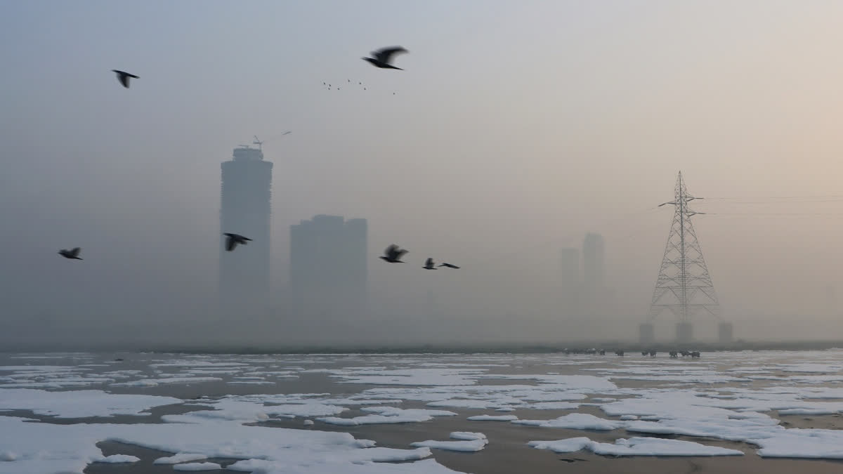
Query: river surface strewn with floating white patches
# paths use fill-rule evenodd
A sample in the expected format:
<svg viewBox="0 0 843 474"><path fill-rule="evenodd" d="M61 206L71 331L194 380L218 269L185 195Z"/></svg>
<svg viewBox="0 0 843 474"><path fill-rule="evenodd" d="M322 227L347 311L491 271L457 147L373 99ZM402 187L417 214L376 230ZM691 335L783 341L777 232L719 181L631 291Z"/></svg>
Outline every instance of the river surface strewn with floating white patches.
<svg viewBox="0 0 843 474"><path fill-rule="evenodd" d="M843 351L0 354L0 473L843 470Z"/></svg>

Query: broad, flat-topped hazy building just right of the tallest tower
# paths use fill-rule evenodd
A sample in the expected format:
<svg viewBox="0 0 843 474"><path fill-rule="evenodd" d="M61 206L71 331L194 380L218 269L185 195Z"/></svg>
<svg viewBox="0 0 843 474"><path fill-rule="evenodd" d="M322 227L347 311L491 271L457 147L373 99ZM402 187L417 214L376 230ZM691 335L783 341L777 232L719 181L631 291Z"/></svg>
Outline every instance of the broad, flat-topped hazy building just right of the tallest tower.
<svg viewBox="0 0 843 474"><path fill-rule="evenodd" d="M314 216L290 226L293 316L344 320L366 310L368 223Z"/></svg>

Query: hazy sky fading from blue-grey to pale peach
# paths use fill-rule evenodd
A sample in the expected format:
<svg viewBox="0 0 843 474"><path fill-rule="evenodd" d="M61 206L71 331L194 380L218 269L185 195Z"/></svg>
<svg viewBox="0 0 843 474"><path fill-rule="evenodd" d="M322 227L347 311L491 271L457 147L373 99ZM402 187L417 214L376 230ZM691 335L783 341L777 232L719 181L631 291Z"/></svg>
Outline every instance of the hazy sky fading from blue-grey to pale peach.
<svg viewBox="0 0 843 474"><path fill-rule="evenodd" d="M682 170L736 335L823 336L843 198L772 197L843 195L841 22L819 0L0 0L2 314L201 320L219 164L256 134L276 288L288 226L340 214L369 219L373 299L553 321L558 250L595 231L633 327ZM391 45L405 71L361 60ZM368 90L322 86L348 79ZM375 261L393 242L411 265Z"/></svg>

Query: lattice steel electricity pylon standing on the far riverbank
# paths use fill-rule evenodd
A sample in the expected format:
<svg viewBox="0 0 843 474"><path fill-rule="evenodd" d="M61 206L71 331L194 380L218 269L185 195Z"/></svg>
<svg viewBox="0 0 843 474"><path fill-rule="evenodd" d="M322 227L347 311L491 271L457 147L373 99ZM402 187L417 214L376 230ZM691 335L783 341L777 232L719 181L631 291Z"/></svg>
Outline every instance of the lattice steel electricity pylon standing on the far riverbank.
<svg viewBox="0 0 843 474"><path fill-rule="evenodd" d="M664 310L670 310L679 318L679 342L690 341L690 320L693 315L704 312L722 320L717 293L711 283L694 224L690 220L691 216L704 214L688 207L688 202L695 199L701 197L688 194L680 171L676 178L674 201L659 205L672 204L676 210L673 224L670 225L668 244L664 248L662 267L658 271L656 288L652 292L648 323L652 324L652 320Z"/></svg>

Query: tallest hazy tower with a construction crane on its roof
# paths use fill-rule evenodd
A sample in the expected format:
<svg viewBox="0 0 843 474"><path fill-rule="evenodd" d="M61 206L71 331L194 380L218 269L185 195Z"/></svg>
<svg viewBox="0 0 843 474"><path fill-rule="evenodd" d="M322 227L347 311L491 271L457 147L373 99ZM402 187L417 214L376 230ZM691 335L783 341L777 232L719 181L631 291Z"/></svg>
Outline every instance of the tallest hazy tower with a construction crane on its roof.
<svg viewBox="0 0 843 474"><path fill-rule="evenodd" d="M240 146L222 164L220 230L251 239L248 245L219 250L219 298L223 318L242 311L267 310L270 294L272 163L260 148Z"/></svg>

